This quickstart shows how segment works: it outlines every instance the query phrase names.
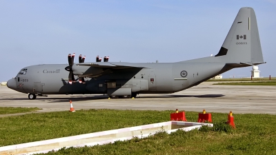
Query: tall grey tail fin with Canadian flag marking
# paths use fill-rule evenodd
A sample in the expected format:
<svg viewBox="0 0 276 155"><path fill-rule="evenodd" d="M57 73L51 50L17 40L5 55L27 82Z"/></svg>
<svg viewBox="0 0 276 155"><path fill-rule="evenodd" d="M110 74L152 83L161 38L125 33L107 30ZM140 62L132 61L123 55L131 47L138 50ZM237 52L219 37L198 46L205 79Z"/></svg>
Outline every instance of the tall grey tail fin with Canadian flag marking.
<svg viewBox="0 0 276 155"><path fill-rule="evenodd" d="M227 63L264 63L256 15L253 8L241 8L215 57Z"/></svg>

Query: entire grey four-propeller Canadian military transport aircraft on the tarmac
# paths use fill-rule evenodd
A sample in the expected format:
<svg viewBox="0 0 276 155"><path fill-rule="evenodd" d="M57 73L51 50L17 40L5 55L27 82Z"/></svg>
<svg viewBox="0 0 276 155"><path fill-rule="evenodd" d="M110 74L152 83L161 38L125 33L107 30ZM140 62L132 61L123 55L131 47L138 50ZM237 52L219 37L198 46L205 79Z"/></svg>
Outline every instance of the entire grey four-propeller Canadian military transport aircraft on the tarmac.
<svg viewBox="0 0 276 155"><path fill-rule="evenodd" d="M23 68L8 87L29 99L47 94L107 94L129 98L137 94L173 93L188 89L233 68L264 63L253 8L241 8L215 56L176 63L85 63L85 56L68 55L69 64ZM77 82L78 81L78 82Z"/></svg>

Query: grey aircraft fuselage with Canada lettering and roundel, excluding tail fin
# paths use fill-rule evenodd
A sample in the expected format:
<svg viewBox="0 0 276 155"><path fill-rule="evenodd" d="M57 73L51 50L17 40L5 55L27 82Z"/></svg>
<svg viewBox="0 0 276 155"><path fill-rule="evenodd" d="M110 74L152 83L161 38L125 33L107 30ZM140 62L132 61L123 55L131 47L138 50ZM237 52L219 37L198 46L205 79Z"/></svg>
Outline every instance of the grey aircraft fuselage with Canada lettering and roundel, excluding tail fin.
<svg viewBox="0 0 276 155"><path fill-rule="evenodd" d="M66 64L32 65L23 68L14 79L10 79L8 87L30 94L173 93L217 75L225 64L139 63L139 65L144 68L111 70L109 74L97 78L86 78L85 84L78 81L68 83ZM77 78L75 76L75 79Z"/></svg>

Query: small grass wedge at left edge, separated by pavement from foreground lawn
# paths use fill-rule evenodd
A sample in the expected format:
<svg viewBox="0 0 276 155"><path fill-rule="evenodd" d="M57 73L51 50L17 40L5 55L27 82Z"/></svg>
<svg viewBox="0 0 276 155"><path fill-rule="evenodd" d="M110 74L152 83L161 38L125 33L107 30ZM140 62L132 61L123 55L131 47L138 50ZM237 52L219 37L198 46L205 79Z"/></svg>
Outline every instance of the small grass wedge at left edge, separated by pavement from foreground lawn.
<svg viewBox="0 0 276 155"><path fill-rule="evenodd" d="M0 114L17 114L41 110L38 107L0 107Z"/></svg>

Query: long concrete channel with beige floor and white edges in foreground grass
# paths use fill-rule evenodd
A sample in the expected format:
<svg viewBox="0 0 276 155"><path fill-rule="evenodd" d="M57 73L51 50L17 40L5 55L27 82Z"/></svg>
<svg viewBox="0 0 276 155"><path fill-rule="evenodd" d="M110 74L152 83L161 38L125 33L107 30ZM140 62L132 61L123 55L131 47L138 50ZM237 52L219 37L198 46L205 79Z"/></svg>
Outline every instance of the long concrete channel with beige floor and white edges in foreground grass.
<svg viewBox="0 0 276 155"><path fill-rule="evenodd" d="M80 134L77 136L55 138L46 141L9 145L5 147L0 147L0 154L36 154L47 153L52 150L57 151L62 147L103 145L106 143L114 143L115 141L126 141L133 138L134 136L138 138L144 138L153 135L159 131L165 131L169 134L179 129L190 131L200 128L202 125L213 126L213 124L209 123L168 121L149 125L126 127L118 130L108 130L104 132L94 132L90 134ZM174 127L172 128L172 126ZM178 126L179 129L175 129L176 126Z"/></svg>

